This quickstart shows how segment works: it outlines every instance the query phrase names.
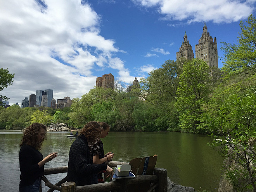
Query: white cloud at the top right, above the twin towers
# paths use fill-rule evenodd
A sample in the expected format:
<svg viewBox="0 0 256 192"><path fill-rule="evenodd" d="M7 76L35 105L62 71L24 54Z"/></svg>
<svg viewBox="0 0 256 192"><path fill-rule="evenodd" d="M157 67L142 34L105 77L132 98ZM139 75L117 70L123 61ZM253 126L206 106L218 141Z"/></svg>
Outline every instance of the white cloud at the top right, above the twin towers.
<svg viewBox="0 0 256 192"><path fill-rule="evenodd" d="M255 0L133 0L136 5L156 7L165 20L191 22L240 21L253 13ZM173 26L173 24L170 24Z"/></svg>

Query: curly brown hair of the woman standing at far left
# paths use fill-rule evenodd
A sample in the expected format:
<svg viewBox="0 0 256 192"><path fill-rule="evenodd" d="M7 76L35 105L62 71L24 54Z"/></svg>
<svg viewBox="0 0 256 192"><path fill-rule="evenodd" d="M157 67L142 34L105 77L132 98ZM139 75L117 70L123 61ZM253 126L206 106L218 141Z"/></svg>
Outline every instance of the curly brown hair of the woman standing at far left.
<svg viewBox="0 0 256 192"><path fill-rule="evenodd" d="M33 123L29 127L23 130L23 136L21 139L21 144L19 145L20 147L22 145L31 145L35 147L37 150L41 150L43 141L46 140L46 135L45 138L41 142L38 142L38 133L40 129L43 128L46 133L46 126L43 125L42 123Z"/></svg>

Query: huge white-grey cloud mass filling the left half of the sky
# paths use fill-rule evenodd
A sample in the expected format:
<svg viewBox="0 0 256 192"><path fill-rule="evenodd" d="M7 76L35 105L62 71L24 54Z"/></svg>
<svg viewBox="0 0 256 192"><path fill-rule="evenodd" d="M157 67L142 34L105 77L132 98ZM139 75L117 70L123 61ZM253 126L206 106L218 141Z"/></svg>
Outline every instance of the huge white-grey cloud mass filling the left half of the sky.
<svg viewBox="0 0 256 192"><path fill-rule="evenodd" d="M15 77L1 94L10 104L44 89L54 89L55 99L72 99L93 88L95 65L127 73L123 61L113 57L125 51L100 35L100 22L85 1L2 1L0 65Z"/></svg>

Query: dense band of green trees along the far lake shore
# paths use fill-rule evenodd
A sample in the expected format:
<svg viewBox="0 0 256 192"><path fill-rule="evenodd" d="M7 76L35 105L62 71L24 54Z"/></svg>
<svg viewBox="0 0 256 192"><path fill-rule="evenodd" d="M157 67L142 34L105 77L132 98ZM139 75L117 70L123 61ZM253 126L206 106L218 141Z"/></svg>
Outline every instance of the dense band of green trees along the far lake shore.
<svg viewBox="0 0 256 192"><path fill-rule="evenodd" d="M199 59L167 60L140 79L140 88L133 87L131 92L118 81L114 90L94 87L64 109L0 108L0 128L22 129L33 122L61 122L81 128L88 121L106 121L112 130L119 131L210 133L202 114L214 118L230 95L256 93L255 18L249 16L240 27L238 44L223 43L221 70Z"/></svg>

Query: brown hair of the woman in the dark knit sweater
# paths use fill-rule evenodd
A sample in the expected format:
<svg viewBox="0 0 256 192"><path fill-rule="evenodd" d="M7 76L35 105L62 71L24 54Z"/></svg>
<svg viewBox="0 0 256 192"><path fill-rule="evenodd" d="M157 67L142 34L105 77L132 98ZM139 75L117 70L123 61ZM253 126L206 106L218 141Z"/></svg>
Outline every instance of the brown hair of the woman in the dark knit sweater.
<svg viewBox="0 0 256 192"><path fill-rule="evenodd" d="M102 126L97 121L90 121L86 123L83 129L80 131L79 135L85 135L88 142L91 143L93 140L100 136L103 131Z"/></svg>

